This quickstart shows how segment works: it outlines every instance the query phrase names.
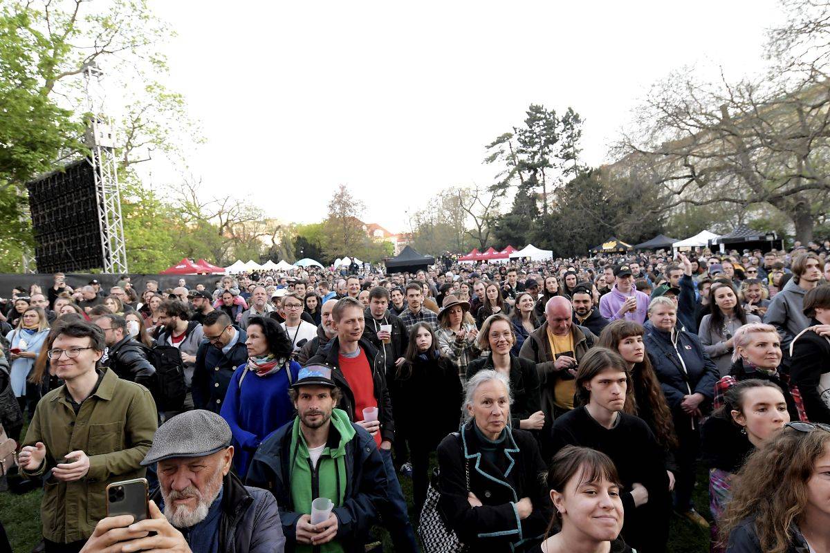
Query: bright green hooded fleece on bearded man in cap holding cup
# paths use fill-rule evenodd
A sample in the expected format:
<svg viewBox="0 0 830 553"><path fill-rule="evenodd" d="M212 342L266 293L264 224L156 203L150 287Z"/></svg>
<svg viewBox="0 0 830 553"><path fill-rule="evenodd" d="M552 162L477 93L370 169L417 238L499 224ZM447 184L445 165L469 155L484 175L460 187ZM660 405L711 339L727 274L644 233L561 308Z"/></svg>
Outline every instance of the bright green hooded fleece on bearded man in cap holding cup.
<svg viewBox="0 0 830 553"><path fill-rule="evenodd" d="M331 412L329 441L317 461L311 466L309 450L305 436L300 431L300 417L295 417L291 430L291 502L296 512L311 514L311 502L317 497L328 497L334 507L343 505L346 492L346 444L354 438L354 428L349 422L349 415L343 410ZM311 553L312 547L297 544L298 553ZM334 541L323 544L320 553L343 553L343 547Z"/></svg>

